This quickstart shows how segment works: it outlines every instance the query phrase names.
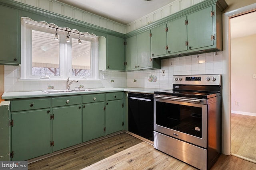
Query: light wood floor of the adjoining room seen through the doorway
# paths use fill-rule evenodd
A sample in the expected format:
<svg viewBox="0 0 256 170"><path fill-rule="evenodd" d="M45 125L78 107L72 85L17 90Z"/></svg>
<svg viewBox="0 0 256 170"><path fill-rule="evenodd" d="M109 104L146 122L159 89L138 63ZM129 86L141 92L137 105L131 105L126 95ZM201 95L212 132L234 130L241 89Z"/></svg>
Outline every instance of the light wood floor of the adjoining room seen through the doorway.
<svg viewBox="0 0 256 170"><path fill-rule="evenodd" d="M256 161L256 117L231 113L231 153Z"/></svg>

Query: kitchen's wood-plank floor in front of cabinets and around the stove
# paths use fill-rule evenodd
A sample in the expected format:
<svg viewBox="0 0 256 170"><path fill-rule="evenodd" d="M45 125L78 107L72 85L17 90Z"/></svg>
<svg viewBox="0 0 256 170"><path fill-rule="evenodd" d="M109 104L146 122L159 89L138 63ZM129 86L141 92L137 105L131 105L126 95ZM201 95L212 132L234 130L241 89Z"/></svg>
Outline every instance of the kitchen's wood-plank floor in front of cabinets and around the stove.
<svg viewBox="0 0 256 170"><path fill-rule="evenodd" d="M28 165L29 170L196 170L127 133ZM221 155L211 170L256 170L256 164Z"/></svg>

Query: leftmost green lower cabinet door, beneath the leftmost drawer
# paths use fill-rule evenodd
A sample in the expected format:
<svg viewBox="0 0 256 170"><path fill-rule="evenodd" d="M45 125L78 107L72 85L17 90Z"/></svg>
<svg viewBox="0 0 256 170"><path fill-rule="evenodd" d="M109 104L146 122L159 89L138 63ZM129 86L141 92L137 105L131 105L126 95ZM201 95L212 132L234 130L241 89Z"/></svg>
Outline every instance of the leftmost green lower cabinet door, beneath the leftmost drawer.
<svg viewBox="0 0 256 170"><path fill-rule="evenodd" d="M12 160L28 160L51 152L50 109L11 113Z"/></svg>

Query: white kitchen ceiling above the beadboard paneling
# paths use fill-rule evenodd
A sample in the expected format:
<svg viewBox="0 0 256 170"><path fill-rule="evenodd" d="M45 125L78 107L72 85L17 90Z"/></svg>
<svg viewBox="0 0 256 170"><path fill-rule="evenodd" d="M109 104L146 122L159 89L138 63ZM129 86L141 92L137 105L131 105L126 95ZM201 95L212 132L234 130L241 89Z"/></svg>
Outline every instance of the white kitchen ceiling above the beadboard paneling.
<svg viewBox="0 0 256 170"><path fill-rule="evenodd" d="M127 25L175 0L58 0L70 6Z"/></svg>

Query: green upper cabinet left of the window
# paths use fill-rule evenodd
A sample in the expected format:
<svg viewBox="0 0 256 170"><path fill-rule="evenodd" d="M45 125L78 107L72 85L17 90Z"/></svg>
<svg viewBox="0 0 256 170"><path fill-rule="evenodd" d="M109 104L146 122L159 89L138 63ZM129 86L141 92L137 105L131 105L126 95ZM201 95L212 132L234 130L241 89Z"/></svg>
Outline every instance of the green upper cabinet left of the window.
<svg viewBox="0 0 256 170"><path fill-rule="evenodd" d="M0 64L20 64L20 20L18 10L0 5Z"/></svg>

